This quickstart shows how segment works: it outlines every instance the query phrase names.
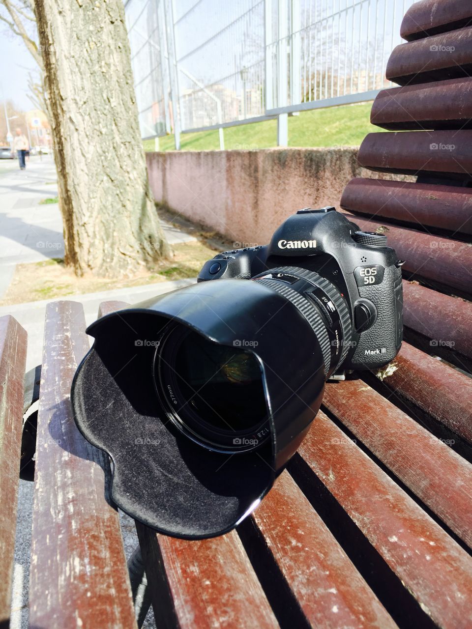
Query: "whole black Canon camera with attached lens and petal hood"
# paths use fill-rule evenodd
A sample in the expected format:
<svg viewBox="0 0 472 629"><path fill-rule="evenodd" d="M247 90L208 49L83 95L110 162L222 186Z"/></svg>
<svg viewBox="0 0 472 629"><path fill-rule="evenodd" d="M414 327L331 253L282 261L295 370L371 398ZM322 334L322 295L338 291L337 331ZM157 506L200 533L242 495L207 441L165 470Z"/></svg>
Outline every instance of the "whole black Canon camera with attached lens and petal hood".
<svg viewBox="0 0 472 629"><path fill-rule="evenodd" d="M118 506L176 537L237 526L295 454L325 381L398 353L402 264L385 234L305 208L268 245L215 255L197 284L89 326L72 409L113 461Z"/></svg>

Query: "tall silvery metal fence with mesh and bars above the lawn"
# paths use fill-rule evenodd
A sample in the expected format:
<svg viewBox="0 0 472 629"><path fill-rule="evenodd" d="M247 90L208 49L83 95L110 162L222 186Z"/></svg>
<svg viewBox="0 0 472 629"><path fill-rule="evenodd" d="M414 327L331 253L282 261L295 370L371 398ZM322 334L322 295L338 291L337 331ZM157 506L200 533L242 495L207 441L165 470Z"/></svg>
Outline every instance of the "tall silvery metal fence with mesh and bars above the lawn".
<svg viewBox="0 0 472 629"><path fill-rule="evenodd" d="M143 138L373 99L414 0L127 0Z"/></svg>

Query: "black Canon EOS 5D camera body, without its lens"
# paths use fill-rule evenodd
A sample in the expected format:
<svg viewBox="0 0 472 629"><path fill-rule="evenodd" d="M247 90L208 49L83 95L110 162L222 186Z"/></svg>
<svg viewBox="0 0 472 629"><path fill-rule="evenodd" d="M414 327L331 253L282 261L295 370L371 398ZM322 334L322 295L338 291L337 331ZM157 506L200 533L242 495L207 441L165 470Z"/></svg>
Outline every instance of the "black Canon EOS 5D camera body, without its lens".
<svg viewBox="0 0 472 629"><path fill-rule="evenodd" d="M342 355L330 375L342 377L349 370L387 364L402 344L403 261L386 242L384 234L359 230L334 207L305 208L279 226L269 245L215 255L203 265L198 281L271 279L303 292L326 319L335 311L330 292L320 282L300 287L300 273L293 270L325 278L339 291L351 318L349 338L339 335L344 347L339 347L335 325L330 337L331 351Z"/></svg>

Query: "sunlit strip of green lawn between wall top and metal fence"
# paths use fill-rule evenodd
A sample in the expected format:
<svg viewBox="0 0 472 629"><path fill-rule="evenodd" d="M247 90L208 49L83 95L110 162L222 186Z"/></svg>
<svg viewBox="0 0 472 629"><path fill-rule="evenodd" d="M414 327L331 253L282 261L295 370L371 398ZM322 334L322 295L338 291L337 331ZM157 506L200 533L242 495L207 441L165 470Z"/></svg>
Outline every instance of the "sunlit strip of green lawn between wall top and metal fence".
<svg viewBox="0 0 472 629"><path fill-rule="evenodd" d="M370 123L372 102L326 109L301 111L288 118L290 147L357 147L371 131L381 131ZM228 127L224 130L225 148L256 149L277 145L277 121L267 120ZM144 148L154 151L154 140L144 140ZM181 148L188 151L218 150L218 131L183 133ZM159 150L174 150L174 136L159 138Z"/></svg>

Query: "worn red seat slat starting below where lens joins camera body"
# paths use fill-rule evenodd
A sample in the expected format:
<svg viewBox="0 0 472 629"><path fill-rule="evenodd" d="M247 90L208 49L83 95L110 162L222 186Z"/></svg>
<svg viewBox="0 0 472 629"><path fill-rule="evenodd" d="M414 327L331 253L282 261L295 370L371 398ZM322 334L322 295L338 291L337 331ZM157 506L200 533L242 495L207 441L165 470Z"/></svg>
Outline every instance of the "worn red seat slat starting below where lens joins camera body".
<svg viewBox="0 0 472 629"><path fill-rule="evenodd" d="M362 380L327 383L323 405L472 547L471 464Z"/></svg>

